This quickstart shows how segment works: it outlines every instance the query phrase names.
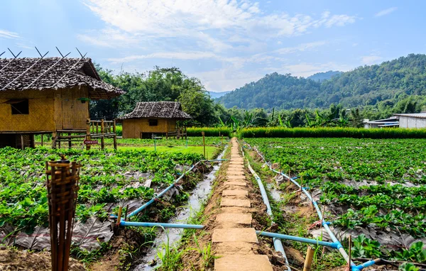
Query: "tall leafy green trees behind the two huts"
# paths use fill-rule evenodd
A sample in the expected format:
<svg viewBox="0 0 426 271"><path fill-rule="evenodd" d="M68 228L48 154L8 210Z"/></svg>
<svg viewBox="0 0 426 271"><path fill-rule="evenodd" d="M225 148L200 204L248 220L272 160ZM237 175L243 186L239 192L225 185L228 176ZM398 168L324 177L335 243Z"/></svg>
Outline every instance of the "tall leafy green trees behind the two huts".
<svg viewBox="0 0 426 271"><path fill-rule="evenodd" d="M126 93L111 100L90 102L92 118L112 119L128 114L138 101L180 101L182 109L192 116L187 124L200 126L216 122L214 102L199 79L187 77L177 67L160 68L146 73L112 74L96 65L100 77Z"/></svg>

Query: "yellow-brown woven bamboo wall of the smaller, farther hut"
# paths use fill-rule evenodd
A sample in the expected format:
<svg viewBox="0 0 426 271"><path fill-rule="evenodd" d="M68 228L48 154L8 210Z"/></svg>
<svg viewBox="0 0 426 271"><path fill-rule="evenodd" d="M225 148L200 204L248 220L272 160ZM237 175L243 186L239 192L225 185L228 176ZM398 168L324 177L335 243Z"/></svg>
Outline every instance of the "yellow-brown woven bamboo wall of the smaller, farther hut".
<svg viewBox="0 0 426 271"><path fill-rule="evenodd" d="M176 120L158 118L158 126L149 126L148 118L123 120L123 138L141 138L141 133L167 133L176 129Z"/></svg>

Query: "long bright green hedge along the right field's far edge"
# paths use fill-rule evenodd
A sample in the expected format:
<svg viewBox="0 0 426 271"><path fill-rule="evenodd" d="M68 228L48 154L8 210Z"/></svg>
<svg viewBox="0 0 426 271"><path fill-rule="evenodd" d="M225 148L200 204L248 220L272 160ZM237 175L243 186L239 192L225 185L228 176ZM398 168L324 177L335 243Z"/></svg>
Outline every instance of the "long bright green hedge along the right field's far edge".
<svg viewBox="0 0 426 271"><path fill-rule="evenodd" d="M426 129L406 128L246 128L239 138L426 138Z"/></svg>

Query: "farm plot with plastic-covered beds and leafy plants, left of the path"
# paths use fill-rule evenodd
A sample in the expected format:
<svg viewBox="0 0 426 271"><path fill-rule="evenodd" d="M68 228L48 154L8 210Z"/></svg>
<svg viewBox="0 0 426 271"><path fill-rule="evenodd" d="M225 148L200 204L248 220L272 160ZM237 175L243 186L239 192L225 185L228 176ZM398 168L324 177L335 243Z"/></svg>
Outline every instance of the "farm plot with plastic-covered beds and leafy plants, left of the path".
<svg viewBox="0 0 426 271"><path fill-rule="evenodd" d="M1 243L31 249L48 247L45 161L58 160L60 153L83 165L76 207L75 227L78 229L76 232L75 228L74 236L80 248L87 250L100 248L102 241L111 238L107 217L116 214L119 205L129 206L125 211L133 211L202 160L202 155L195 153L3 148L0 150ZM198 179L200 176L190 174L184 188L190 186L190 182L195 185ZM187 197L186 193L180 193L175 199L181 202ZM175 214L173 203L155 205L153 213L143 213L143 220L167 221Z"/></svg>

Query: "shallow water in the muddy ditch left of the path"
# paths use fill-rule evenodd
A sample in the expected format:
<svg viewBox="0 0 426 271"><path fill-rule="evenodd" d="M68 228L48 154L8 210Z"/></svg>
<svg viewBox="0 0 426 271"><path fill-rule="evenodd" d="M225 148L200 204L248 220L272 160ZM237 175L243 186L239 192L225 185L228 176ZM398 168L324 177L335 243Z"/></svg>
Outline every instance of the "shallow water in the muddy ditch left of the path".
<svg viewBox="0 0 426 271"><path fill-rule="evenodd" d="M217 157L217 159L221 159L223 155L224 151ZM212 171L205 175L202 182L199 182L195 189L192 190L192 194L190 195L187 204L180 207L180 209L178 209L178 215L173 217L173 219L170 219L168 223L186 223L193 214L200 210L203 201L207 199L207 196L212 190L214 174L217 170L219 170L220 165L222 165L222 162L213 164ZM148 250L148 253L144 255L143 258L138 259L138 265L136 265L133 271L155 270L160 263L157 262L156 264L153 264L153 261L158 258L158 253L164 253L163 248L161 248L162 244L169 242L170 246L177 245L182 233L182 228L168 228L165 231L159 229L157 236L153 241L153 246ZM153 265L151 266L151 264Z"/></svg>

